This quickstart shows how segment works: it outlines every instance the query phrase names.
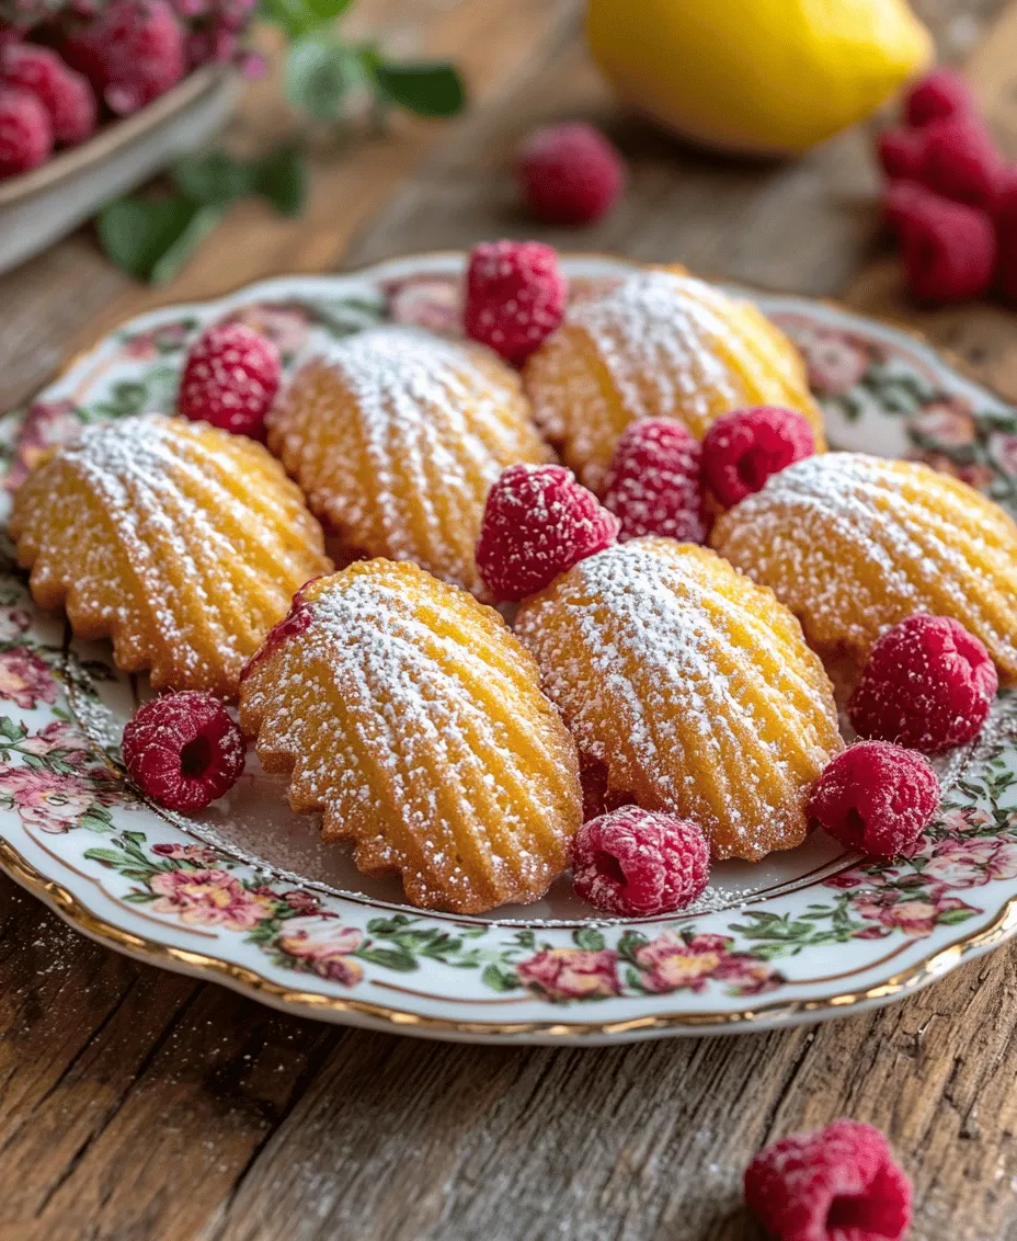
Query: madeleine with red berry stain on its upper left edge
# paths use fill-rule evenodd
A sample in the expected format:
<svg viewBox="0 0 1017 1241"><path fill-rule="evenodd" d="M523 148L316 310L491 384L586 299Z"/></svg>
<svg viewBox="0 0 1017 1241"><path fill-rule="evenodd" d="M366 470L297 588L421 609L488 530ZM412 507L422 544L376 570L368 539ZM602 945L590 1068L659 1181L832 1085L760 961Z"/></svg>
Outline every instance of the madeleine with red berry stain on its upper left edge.
<svg viewBox="0 0 1017 1241"><path fill-rule="evenodd" d="M489 607L411 563L351 565L301 592L244 675L241 724L294 810L324 810L366 874L480 913L535 901L582 820L575 745Z"/></svg>

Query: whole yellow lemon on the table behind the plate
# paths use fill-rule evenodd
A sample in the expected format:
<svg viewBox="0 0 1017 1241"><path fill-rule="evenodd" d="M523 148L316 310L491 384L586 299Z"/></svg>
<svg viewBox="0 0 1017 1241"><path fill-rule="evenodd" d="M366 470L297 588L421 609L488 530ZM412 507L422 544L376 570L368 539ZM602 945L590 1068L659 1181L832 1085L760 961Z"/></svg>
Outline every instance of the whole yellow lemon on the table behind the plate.
<svg viewBox="0 0 1017 1241"><path fill-rule="evenodd" d="M861 120L931 60L904 0L589 0L594 60L667 128L796 153Z"/></svg>

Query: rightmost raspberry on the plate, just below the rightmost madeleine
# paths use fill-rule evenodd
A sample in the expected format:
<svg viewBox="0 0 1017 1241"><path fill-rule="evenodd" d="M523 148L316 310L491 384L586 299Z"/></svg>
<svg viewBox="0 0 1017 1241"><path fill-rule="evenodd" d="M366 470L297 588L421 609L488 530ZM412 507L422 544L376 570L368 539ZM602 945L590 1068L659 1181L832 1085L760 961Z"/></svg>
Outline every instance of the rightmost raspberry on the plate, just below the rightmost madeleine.
<svg viewBox="0 0 1017 1241"><path fill-rule="evenodd" d="M847 710L858 736L934 755L977 737L998 688L988 652L962 624L914 616L876 643Z"/></svg>

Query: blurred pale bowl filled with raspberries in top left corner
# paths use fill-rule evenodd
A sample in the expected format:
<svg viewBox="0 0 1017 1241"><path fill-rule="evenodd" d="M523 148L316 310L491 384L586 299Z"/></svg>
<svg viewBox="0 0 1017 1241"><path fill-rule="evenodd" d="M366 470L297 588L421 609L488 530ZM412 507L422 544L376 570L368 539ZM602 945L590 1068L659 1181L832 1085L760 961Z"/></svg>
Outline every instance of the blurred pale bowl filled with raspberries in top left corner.
<svg viewBox="0 0 1017 1241"><path fill-rule="evenodd" d="M0 272L205 143L257 0L0 0Z"/></svg>

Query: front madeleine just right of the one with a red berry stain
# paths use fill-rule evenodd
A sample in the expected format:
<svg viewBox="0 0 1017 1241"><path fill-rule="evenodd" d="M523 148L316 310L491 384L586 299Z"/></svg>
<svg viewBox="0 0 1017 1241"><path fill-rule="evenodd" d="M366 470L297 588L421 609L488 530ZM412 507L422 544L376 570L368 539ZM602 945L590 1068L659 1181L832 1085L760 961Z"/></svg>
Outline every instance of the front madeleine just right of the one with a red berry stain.
<svg viewBox="0 0 1017 1241"><path fill-rule="evenodd" d="M707 549L635 539L527 599L516 628L609 792L695 820L714 858L805 839L841 737L822 664L770 591Z"/></svg>

